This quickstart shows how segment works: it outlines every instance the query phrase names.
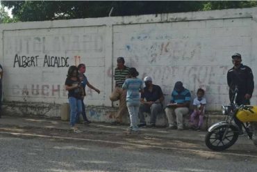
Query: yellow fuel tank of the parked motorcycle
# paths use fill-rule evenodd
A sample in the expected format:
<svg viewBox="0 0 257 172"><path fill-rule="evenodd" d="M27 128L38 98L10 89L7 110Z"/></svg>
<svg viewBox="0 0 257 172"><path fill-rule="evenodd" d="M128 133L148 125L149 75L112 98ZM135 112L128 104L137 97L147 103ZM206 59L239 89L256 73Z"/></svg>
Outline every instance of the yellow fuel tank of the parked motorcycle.
<svg viewBox="0 0 257 172"><path fill-rule="evenodd" d="M251 106L251 110L254 111L254 113L251 113L251 111L248 110L238 110L238 113L236 114L236 117L243 123L246 122L257 122L257 106Z"/></svg>

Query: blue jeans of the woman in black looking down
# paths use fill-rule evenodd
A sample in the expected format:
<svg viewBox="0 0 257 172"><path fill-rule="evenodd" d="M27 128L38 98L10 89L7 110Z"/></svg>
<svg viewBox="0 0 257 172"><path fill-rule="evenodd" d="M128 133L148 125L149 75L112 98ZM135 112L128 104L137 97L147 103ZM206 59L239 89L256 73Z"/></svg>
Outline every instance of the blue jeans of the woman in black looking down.
<svg viewBox="0 0 257 172"><path fill-rule="evenodd" d="M82 111L81 100L75 97L69 97L69 109L70 109L69 124L71 125L71 127L74 127L76 123L76 118L81 114L81 111Z"/></svg>

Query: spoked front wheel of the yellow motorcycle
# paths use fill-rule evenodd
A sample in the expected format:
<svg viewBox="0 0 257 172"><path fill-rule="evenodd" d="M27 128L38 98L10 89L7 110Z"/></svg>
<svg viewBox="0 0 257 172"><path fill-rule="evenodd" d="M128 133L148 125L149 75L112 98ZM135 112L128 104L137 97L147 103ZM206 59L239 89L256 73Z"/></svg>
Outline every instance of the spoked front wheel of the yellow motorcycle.
<svg viewBox="0 0 257 172"><path fill-rule="evenodd" d="M234 125L221 125L206 134L205 143L211 150L225 150L238 140L238 134L238 128Z"/></svg>

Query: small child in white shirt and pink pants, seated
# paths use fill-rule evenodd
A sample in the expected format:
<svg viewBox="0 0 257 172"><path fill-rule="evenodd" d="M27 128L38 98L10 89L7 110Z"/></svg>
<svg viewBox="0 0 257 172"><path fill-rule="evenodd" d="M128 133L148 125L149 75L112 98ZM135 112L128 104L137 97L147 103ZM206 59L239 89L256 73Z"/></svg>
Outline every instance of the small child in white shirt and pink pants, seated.
<svg viewBox="0 0 257 172"><path fill-rule="evenodd" d="M194 111L190 116L190 122L192 123L192 129L200 131L201 125L204 123L204 112L206 106L206 98L204 98L204 90L199 88L197 90L197 97L193 102Z"/></svg>

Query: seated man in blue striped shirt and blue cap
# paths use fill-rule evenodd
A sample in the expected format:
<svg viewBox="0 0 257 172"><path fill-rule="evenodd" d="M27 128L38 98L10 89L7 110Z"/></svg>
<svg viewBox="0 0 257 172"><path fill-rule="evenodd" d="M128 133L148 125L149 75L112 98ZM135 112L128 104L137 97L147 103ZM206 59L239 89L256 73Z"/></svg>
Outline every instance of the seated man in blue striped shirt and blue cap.
<svg viewBox="0 0 257 172"><path fill-rule="evenodd" d="M167 129L183 130L183 115L189 112L190 100L190 91L183 87L181 81L177 81L172 91L172 99L165 108L169 123Z"/></svg>

